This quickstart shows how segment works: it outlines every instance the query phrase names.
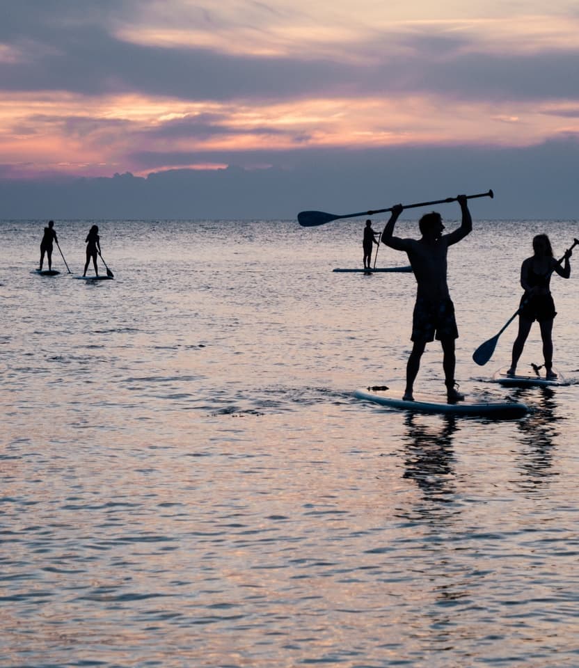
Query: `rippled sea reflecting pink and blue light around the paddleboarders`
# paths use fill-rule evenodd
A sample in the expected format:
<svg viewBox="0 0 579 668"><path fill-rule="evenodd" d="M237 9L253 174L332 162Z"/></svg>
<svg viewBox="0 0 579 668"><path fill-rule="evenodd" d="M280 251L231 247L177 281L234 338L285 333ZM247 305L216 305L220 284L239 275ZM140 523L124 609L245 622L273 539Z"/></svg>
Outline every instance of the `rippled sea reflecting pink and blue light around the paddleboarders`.
<svg viewBox="0 0 579 668"><path fill-rule="evenodd" d="M100 226L100 283L56 247L63 273L34 275L46 221L2 221L0 665L579 666L579 253L552 281L569 384L488 382L516 323L471 358L533 235L560 257L577 224L471 210L457 379L522 420L352 397L402 383L415 292L332 272L361 266L363 220L56 221L75 275ZM534 325L520 368L542 361ZM444 390L436 343L415 389Z"/></svg>

